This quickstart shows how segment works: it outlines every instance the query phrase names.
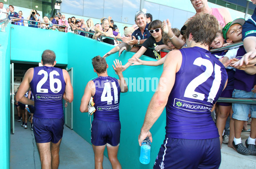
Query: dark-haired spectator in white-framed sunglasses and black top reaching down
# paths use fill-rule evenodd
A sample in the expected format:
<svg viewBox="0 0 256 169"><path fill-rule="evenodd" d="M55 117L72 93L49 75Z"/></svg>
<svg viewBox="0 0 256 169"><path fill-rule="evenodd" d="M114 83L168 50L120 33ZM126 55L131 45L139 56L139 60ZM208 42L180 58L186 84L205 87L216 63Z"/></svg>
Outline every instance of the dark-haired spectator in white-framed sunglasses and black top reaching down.
<svg viewBox="0 0 256 169"><path fill-rule="evenodd" d="M160 20L154 20L148 25L149 33L151 34L151 36L148 37L148 39L142 44L142 47L140 48L140 50L137 51L136 54L134 54L134 56L132 56L131 59L134 59L135 57L140 58L140 56L142 56L148 48L152 48L153 46L156 47L158 45L164 45L163 39L162 39L161 25L162 25L162 22ZM159 50L156 51L155 49L154 50L152 49L151 57L157 60L161 59L160 51ZM123 66L123 71L127 69L130 65L131 63L127 62Z"/></svg>

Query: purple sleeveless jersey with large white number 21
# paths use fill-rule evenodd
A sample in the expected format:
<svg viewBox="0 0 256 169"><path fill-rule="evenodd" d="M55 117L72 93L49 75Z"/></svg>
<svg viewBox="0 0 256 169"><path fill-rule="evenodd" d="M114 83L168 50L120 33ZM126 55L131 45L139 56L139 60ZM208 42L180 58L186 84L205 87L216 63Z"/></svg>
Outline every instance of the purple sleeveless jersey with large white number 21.
<svg viewBox="0 0 256 169"><path fill-rule="evenodd" d="M225 67L209 51L180 49L182 64L166 104L166 137L217 138L211 109L227 81Z"/></svg>

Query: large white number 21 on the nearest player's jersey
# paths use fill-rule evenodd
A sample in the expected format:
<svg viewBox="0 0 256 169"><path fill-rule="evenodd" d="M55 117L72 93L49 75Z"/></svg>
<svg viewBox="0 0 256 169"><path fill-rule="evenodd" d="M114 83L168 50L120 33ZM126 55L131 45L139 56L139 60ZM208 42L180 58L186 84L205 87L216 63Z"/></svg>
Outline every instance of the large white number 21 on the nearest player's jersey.
<svg viewBox="0 0 256 169"><path fill-rule="evenodd" d="M195 59L193 64L197 66L204 65L206 67L206 70L189 83L189 85L186 87L184 97L191 98L191 99L204 100L205 98L204 93L196 92L195 89L202 83L206 82L210 76L212 76L213 65L212 65L212 62L210 62L207 59L203 59L201 57ZM215 96L217 95L218 89L221 85L221 67L215 64L214 72L215 72L215 78L212 82L212 87L208 96L208 101L211 103L214 100Z"/></svg>

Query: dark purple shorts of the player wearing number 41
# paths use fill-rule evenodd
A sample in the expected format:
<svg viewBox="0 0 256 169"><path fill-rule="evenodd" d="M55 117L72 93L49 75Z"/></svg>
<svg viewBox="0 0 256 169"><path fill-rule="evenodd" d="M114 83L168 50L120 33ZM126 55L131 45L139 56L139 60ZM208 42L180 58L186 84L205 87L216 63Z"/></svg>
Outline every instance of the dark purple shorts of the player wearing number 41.
<svg viewBox="0 0 256 169"><path fill-rule="evenodd" d="M93 119L91 143L95 146L118 146L120 143L121 123Z"/></svg>

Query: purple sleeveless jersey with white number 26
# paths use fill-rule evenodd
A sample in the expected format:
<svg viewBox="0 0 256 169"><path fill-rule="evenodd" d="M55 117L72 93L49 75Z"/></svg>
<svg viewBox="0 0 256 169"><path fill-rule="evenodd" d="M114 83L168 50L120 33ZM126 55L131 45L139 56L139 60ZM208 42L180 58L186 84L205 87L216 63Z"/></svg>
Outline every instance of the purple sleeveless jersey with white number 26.
<svg viewBox="0 0 256 169"><path fill-rule="evenodd" d="M30 87L35 99L37 118L62 118L62 98L66 88L62 69L35 67Z"/></svg>

